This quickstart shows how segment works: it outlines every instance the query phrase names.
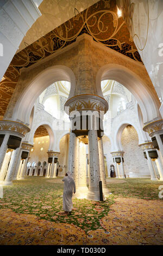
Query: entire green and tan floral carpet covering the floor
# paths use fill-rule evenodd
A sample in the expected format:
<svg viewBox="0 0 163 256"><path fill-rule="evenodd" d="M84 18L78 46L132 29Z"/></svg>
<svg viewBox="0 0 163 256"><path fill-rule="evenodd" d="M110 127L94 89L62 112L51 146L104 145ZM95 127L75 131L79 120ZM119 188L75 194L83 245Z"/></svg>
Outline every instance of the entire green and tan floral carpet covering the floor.
<svg viewBox="0 0 163 256"><path fill-rule="evenodd" d="M112 181L104 203L73 199L71 216L59 178L14 181L0 199L0 245L163 245L163 182Z"/></svg>

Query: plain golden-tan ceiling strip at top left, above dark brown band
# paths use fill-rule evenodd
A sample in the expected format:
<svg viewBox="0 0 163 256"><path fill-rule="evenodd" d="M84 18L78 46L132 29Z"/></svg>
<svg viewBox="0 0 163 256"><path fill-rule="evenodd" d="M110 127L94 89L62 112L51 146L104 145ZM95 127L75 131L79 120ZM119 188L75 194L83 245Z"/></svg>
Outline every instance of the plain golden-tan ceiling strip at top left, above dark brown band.
<svg viewBox="0 0 163 256"><path fill-rule="evenodd" d="M32 44L54 28L70 20L74 16L74 8L80 13L96 2L98 2L98 0L43 0L39 5L39 10L42 15L27 31L18 51L23 50L27 45ZM78 14L77 10L76 14Z"/></svg>

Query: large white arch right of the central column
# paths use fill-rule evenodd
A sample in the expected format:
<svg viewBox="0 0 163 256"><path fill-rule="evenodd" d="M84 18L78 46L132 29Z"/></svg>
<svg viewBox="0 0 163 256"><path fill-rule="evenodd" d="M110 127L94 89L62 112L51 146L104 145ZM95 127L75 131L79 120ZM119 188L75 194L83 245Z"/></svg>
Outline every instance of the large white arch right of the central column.
<svg viewBox="0 0 163 256"><path fill-rule="evenodd" d="M100 95L102 94L101 81L103 80L115 80L134 95L142 111L143 123L160 118L158 98L136 73L116 63L101 67L96 76L96 88Z"/></svg>

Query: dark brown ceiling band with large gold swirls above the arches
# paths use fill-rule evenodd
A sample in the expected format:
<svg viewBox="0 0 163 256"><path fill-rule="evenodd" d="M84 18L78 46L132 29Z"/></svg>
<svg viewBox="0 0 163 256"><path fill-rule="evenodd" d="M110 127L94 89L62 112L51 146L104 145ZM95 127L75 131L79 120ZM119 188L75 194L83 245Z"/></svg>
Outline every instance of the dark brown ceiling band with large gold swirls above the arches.
<svg viewBox="0 0 163 256"><path fill-rule="evenodd" d="M141 62L123 18L117 17L115 0L101 0L18 52L0 83L0 115L5 114L22 67L29 67L87 33L99 43Z"/></svg>

